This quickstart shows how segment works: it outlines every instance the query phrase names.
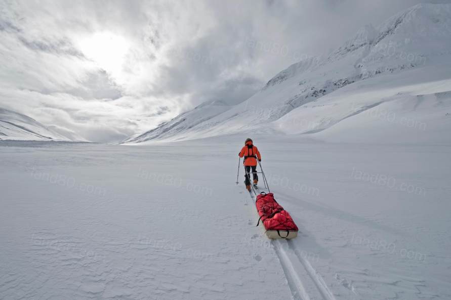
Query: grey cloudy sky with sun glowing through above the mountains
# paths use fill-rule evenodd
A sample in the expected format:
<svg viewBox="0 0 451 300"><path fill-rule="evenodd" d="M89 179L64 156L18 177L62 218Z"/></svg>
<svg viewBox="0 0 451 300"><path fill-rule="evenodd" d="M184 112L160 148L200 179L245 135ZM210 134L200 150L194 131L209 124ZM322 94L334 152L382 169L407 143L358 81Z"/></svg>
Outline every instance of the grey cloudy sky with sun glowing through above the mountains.
<svg viewBox="0 0 451 300"><path fill-rule="evenodd" d="M206 101L243 101L419 2L0 0L0 108L122 140Z"/></svg>

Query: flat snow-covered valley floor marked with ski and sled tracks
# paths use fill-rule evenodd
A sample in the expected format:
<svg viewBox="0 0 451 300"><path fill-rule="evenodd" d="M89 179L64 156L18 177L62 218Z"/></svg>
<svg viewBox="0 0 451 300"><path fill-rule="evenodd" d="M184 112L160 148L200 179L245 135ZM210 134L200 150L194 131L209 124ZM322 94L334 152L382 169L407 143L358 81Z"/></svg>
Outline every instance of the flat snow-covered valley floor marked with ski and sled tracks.
<svg viewBox="0 0 451 300"><path fill-rule="evenodd" d="M0 141L0 298L451 297L451 144L252 136L300 228L271 242L245 137Z"/></svg>

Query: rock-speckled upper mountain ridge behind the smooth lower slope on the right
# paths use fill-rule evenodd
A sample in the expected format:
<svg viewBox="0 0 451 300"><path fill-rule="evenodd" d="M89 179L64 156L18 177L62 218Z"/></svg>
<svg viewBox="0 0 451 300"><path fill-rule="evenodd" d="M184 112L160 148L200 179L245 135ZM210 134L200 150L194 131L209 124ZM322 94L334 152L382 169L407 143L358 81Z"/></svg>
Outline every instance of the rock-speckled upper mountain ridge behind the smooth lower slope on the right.
<svg viewBox="0 0 451 300"><path fill-rule="evenodd" d="M443 28L451 28L449 20L451 4L413 6L377 27L363 26L330 55L292 64L238 105L228 107L219 114L207 113L200 121L185 119L180 123L189 121L191 126L182 128L173 122L171 130L160 130L161 134L157 136L142 134L138 139L127 142L184 140L227 133L252 133L255 130L278 130L279 126L274 122L283 116L345 86L378 76L442 64L445 59L441 56L451 54L448 50L451 46L448 41L450 31L441 32ZM196 116L202 115L202 108L193 111L196 111ZM312 128L308 132L318 129Z"/></svg>

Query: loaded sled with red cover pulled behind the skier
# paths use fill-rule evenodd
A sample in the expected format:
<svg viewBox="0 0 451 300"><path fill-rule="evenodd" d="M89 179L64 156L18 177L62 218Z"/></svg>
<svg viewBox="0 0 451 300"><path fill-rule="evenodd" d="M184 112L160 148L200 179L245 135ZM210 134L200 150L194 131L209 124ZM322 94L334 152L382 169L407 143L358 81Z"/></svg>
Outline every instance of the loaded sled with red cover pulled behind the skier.
<svg viewBox="0 0 451 300"><path fill-rule="evenodd" d="M255 205L260 216L257 226L261 220L269 238L290 239L298 236L298 226L290 214L275 201L273 193L262 192L257 196Z"/></svg>

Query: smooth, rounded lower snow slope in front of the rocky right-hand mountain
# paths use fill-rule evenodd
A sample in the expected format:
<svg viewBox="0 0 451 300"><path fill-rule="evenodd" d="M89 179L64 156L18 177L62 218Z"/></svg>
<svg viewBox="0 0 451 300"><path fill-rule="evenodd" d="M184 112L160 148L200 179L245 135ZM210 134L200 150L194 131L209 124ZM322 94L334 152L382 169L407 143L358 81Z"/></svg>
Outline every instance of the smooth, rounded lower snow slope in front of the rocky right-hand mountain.
<svg viewBox="0 0 451 300"><path fill-rule="evenodd" d="M449 144L450 70L445 62L357 82L291 111L274 125L287 134L336 142Z"/></svg>

